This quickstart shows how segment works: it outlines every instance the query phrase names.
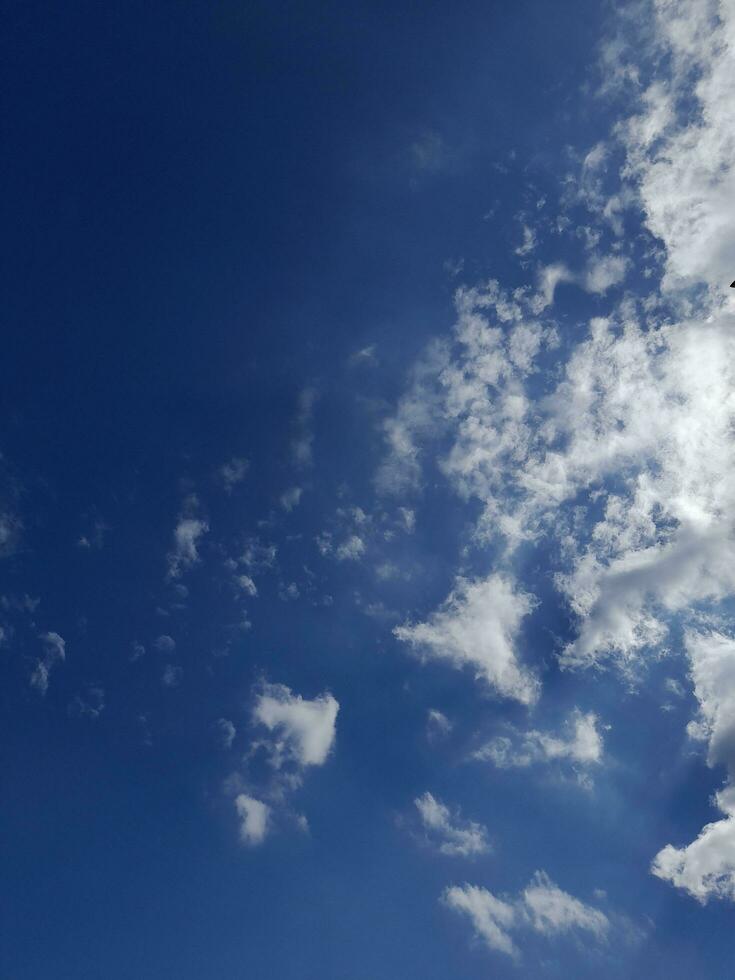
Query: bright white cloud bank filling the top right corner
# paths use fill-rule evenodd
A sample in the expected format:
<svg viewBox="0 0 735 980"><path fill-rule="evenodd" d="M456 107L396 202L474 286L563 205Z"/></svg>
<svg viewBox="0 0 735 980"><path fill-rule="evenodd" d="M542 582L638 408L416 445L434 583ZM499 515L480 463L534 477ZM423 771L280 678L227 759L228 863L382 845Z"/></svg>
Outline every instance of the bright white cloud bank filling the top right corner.
<svg viewBox="0 0 735 980"><path fill-rule="evenodd" d="M730 0L649 9L657 71L620 126L628 172L666 246L664 286L724 292L735 267L735 12Z"/></svg>

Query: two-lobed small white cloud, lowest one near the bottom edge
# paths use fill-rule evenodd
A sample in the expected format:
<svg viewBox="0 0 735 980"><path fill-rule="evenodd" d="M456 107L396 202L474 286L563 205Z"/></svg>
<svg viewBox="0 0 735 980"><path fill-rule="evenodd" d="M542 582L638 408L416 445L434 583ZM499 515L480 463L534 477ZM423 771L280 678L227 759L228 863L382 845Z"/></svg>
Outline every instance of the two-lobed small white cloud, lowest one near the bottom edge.
<svg viewBox="0 0 735 980"><path fill-rule="evenodd" d="M589 933L597 941L607 937L610 922L604 913L562 891L543 871L537 871L515 900L500 899L477 885L447 888L442 900L467 916L475 934L490 948L518 957L511 933L531 930L546 937L569 932Z"/></svg>

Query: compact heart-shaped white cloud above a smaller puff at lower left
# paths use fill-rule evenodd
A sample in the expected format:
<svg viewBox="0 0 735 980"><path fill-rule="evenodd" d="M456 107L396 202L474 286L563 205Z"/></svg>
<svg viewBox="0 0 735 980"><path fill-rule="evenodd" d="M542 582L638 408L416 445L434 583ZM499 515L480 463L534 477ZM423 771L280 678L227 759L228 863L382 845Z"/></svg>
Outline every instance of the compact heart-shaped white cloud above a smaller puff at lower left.
<svg viewBox="0 0 735 980"><path fill-rule="evenodd" d="M339 703L329 693L309 701L283 684L264 684L253 707L253 720L273 732L272 760L299 766L323 765L334 745Z"/></svg>

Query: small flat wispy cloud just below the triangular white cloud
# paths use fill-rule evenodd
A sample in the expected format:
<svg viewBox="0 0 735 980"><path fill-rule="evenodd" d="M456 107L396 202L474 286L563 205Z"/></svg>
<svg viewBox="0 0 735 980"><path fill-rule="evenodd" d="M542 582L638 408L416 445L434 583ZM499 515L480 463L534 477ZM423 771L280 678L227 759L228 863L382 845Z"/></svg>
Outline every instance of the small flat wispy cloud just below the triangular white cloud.
<svg viewBox="0 0 735 980"><path fill-rule="evenodd" d="M530 730L513 732L512 737L496 736L473 753L479 761L491 762L500 769L530 766L536 762L569 760L588 766L602 758L602 735L599 719L594 712L576 709L565 724L561 735Z"/></svg>

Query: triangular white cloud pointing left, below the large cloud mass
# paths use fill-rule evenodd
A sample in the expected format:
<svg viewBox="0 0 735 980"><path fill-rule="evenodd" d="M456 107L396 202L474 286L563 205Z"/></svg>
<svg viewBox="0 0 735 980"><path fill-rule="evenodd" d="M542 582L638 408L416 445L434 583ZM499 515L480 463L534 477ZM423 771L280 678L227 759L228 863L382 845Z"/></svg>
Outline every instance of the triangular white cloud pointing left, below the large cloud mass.
<svg viewBox="0 0 735 980"><path fill-rule="evenodd" d="M427 659L469 667L504 697L532 704L539 681L520 663L516 640L534 599L509 577L458 579L441 607L424 623L397 626L395 636Z"/></svg>

